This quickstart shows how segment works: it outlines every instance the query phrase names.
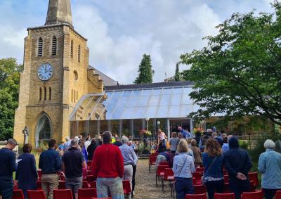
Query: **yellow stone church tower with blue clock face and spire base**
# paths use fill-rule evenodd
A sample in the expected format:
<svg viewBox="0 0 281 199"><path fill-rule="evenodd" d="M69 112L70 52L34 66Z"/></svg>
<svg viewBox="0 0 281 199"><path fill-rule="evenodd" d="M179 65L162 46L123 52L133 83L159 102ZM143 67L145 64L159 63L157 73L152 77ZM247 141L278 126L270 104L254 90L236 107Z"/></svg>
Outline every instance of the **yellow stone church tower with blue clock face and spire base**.
<svg viewBox="0 0 281 199"><path fill-rule="evenodd" d="M14 138L23 143L27 127L29 143L39 146L69 136L75 104L102 92L103 81L89 68L87 40L74 30L70 0L49 0L45 25L27 31Z"/></svg>

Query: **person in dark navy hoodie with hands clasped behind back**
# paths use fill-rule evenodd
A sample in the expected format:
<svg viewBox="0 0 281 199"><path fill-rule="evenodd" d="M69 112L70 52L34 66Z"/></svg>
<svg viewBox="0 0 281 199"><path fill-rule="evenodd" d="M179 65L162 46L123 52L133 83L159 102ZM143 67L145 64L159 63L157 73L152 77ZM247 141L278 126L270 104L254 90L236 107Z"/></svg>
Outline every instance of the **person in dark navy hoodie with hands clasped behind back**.
<svg viewBox="0 0 281 199"><path fill-rule="evenodd" d="M224 162L229 174L230 190L235 193L235 199L241 198L241 193L250 190L248 172L252 167L247 150L240 149L238 139L230 138L229 150L224 153Z"/></svg>

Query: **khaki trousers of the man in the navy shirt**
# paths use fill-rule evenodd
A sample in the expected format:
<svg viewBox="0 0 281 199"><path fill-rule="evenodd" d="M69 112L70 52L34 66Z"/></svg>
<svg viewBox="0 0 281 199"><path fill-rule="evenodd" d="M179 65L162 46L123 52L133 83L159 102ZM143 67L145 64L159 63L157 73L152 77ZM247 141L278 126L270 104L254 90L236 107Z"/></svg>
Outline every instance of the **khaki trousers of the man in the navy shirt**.
<svg viewBox="0 0 281 199"><path fill-rule="evenodd" d="M42 174L42 189L48 199L53 199L53 190L58 189L58 174Z"/></svg>

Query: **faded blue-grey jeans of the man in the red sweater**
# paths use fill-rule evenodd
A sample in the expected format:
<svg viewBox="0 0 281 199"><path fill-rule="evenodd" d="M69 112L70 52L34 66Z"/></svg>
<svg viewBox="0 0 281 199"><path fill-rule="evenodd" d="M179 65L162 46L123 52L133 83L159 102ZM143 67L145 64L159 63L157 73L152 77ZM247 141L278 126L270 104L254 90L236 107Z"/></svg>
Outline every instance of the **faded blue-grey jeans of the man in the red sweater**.
<svg viewBox="0 0 281 199"><path fill-rule="evenodd" d="M117 178L100 178L97 181L98 198L108 198L109 194L112 199L124 199L122 179Z"/></svg>

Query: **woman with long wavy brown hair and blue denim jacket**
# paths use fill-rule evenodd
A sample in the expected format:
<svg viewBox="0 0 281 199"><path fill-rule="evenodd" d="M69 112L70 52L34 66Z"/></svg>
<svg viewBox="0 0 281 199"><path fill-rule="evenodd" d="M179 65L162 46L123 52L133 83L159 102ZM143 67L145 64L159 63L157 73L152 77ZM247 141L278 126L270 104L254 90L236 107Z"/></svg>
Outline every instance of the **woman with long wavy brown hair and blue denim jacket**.
<svg viewBox="0 0 281 199"><path fill-rule="evenodd" d="M223 193L223 155L221 146L215 139L208 139L205 152L202 155L204 170L204 184L206 185L209 199L214 198L214 193Z"/></svg>

